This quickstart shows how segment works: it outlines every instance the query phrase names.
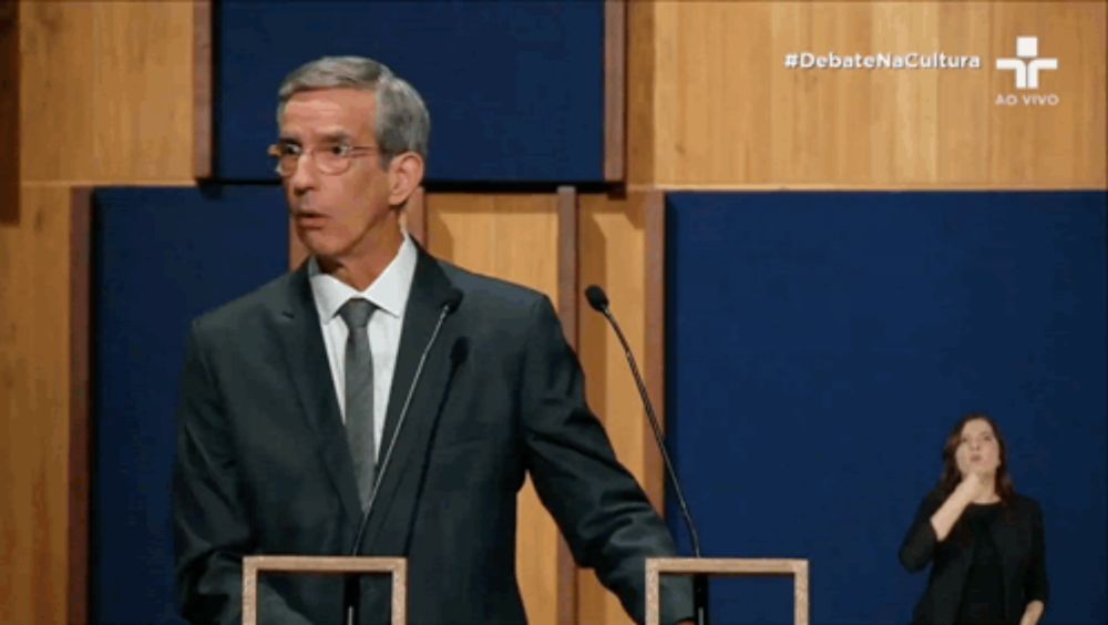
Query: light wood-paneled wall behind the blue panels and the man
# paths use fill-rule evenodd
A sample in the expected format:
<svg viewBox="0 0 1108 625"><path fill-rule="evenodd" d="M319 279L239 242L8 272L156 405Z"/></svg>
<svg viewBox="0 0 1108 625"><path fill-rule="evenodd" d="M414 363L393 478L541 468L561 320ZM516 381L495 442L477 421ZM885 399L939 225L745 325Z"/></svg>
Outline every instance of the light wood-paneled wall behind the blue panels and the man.
<svg viewBox="0 0 1108 625"><path fill-rule="evenodd" d="M88 270L80 256L72 263L70 189L188 185L205 171L193 143L209 131L206 113L194 111L205 89L192 73L196 14L187 1L0 4L0 86L18 86L0 90L0 113L19 112L0 115L9 148L0 157L3 623L85 619L85 606L62 600L71 567L85 565L69 547L70 520L81 519L69 465L81 350L70 336L83 319L71 310L71 271ZM442 257L554 301L564 285L578 294L605 286L658 402L657 189L1106 187L1102 1L634 2L626 20L627 184L576 196L572 228L554 189L431 193L425 233ZM1014 89L993 63L1013 55L1022 34L1038 35L1040 55L1059 59L1039 90L1056 93L1057 106L994 103ZM787 52L828 50L979 54L983 68L783 68ZM560 274L566 232L576 235L571 280ZM658 460L623 352L579 295L577 304L566 321L589 402L660 502ZM626 623L592 573L566 571L530 491L521 505L520 578L532 621Z"/></svg>

